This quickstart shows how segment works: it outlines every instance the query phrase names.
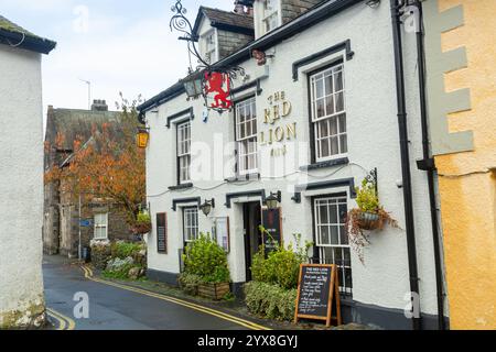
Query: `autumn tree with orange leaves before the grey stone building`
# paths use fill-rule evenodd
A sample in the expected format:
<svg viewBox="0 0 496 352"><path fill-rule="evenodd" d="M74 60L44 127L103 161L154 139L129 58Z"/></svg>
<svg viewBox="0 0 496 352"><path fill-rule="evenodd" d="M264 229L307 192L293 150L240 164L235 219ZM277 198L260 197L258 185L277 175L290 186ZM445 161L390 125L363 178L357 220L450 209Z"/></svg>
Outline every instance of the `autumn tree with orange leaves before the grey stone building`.
<svg viewBox="0 0 496 352"><path fill-rule="evenodd" d="M136 143L141 97L129 101L121 94L120 98L117 121L93 124L87 140L76 136L73 153L46 172L45 183L58 182L61 190L80 196L85 202L112 202L133 226L145 200L145 154ZM58 134L56 143L64 142L65 136Z"/></svg>

